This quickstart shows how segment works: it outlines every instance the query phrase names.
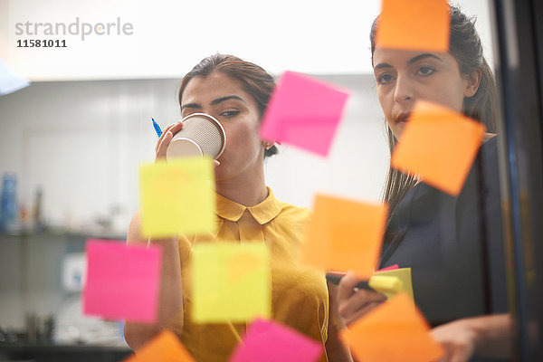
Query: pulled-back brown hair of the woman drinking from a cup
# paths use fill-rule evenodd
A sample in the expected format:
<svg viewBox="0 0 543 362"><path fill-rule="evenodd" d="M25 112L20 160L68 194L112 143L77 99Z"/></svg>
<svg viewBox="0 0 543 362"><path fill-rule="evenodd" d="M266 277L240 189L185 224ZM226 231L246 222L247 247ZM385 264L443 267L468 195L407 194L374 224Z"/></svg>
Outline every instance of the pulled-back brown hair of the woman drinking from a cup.
<svg viewBox="0 0 543 362"><path fill-rule="evenodd" d="M243 90L251 94L258 105L258 111L262 119L264 110L268 106L271 92L275 88L273 77L252 62L245 62L233 55L219 54L208 56L197 63L192 71L186 73L179 86L179 106L182 105L183 91L190 80L195 77L206 77L214 71L220 71L235 80L241 81ZM272 146L264 150L264 157L275 155L277 148Z"/></svg>

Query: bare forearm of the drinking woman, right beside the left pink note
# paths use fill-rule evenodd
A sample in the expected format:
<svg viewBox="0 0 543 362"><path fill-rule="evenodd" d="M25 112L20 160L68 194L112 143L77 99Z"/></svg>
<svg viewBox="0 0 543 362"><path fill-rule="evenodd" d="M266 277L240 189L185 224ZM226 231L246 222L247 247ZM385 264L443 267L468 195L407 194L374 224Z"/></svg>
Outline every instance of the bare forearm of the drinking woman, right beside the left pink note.
<svg viewBox="0 0 543 362"><path fill-rule="evenodd" d="M154 240L151 244L160 246L163 252L157 321L153 324L129 321L125 323L125 338L132 349L140 348L147 343L177 315L183 318L181 263L177 240L176 238ZM181 325L182 322L181 320Z"/></svg>

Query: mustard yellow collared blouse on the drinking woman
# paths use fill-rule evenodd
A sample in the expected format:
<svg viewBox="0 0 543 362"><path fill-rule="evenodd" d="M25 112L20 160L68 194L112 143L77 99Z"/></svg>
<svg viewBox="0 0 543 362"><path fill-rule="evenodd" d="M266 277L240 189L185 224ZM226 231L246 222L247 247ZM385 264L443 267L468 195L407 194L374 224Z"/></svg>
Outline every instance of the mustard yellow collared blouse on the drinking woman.
<svg viewBox="0 0 543 362"><path fill-rule="evenodd" d="M271 189L261 204L245 207L217 194L217 233L181 235L184 326L174 318L170 328L198 362L226 361L238 343L227 324L197 324L190 318L190 253L195 243L225 241L266 243L271 254L271 315L276 321L319 341L324 350L329 327L329 295L324 274L298 264L310 210L277 200ZM180 317L180 316L179 316ZM240 336L245 324L233 324ZM327 361L323 354L322 361Z"/></svg>

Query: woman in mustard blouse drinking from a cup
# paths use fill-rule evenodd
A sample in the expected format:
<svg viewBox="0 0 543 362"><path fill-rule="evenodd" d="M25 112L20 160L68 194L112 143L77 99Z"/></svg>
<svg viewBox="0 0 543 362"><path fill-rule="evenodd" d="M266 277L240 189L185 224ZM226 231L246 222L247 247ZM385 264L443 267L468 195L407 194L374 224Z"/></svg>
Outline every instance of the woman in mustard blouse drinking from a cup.
<svg viewBox="0 0 543 362"><path fill-rule="evenodd" d="M348 360L329 314L324 275L297 263L310 210L277 200L265 185L263 157L276 150L259 137L259 126L274 81L258 65L232 55L205 58L186 74L179 90L183 118L204 112L226 133L224 153L215 164L217 232L151 240L164 250L158 319L153 325L127 322L125 337L137 349L161 329L173 329L197 361L225 361L243 336L245 323L198 324L191 319L190 252L195 243L265 243L271 255L271 314L282 324L319 341L322 361ZM164 129L157 159L166 157L182 122ZM129 227L128 243L141 240L139 213ZM334 293L332 293L334 294Z"/></svg>

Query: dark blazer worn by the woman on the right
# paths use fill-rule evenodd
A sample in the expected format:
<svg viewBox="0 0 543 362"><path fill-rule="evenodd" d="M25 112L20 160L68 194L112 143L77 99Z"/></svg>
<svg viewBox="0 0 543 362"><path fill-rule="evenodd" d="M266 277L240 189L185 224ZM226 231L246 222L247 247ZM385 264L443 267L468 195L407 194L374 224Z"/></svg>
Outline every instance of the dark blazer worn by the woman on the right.
<svg viewBox="0 0 543 362"><path fill-rule="evenodd" d="M386 230L380 267L411 267L414 299L433 325L506 312L497 138L485 142L458 197L419 183Z"/></svg>

